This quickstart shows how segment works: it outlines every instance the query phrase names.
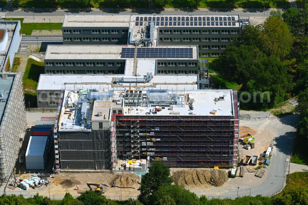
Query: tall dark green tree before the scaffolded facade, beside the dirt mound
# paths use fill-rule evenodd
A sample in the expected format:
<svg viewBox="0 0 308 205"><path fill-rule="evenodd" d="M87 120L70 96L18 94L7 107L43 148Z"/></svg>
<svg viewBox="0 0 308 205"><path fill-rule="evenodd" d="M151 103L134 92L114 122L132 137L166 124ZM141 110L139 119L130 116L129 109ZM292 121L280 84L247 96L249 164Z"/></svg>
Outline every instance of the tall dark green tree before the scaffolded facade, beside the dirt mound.
<svg viewBox="0 0 308 205"><path fill-rule="evenodd" d="M161 161L154 161L148 173L141 177L140 195L138 199L144 204L153 202L152 195L161 186L171 185L172 177L169 168Z"/></svg>

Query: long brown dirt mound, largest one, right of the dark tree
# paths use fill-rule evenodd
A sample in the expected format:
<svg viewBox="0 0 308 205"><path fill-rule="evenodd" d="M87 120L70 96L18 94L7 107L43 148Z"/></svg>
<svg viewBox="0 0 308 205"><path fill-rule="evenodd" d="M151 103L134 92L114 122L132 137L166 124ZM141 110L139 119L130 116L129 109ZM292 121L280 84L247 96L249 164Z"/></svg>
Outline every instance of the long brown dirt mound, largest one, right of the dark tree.
<svg viewBox="0 0 308 205"><path fill-rule="evenodd" d="M184 186L212 185L219 187L228 179L228 173L222 170L189 169L173 172L173 181Z"/></svg>

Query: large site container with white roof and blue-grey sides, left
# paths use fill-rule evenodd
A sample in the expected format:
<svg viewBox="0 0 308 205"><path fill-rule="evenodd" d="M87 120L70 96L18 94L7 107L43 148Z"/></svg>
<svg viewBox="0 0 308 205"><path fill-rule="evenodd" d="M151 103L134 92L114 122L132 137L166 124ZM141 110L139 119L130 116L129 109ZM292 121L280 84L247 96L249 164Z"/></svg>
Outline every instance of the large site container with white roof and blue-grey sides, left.
<svg viewBox="0 0 308 205"><path fill-rule="evenodd" d="M49 136L30 136L26 151L27 169L45 169L49 149Z"/></svg>

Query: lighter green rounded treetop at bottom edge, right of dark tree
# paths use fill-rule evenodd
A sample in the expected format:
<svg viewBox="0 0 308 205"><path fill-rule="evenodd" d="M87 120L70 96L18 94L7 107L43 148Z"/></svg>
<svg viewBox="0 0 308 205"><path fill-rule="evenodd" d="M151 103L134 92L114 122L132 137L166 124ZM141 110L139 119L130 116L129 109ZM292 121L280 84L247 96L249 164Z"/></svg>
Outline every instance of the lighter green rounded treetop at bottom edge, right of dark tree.
<svg viewBox="0 0 308 205"><path fill-rule="evenodd" d="M177 205L199 204L199 198L193 192L177 184L160 187L153 195L153 201L159 201L163 197L169 196ZM164 198L166 199L166 198ZM156 203L159 204L159 203Z"/></svg>

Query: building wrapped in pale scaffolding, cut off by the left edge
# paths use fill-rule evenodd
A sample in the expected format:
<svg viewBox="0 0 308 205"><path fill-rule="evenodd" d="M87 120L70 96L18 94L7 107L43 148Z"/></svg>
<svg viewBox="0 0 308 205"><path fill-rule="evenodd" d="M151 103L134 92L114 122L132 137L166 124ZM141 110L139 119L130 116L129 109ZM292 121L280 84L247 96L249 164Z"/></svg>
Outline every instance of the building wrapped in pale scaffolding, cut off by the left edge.
<svg viewBox="0 0 308 205"><path fill-rule="evenodd" d="M19 73L0 73L0 182L6 183L15 166L26 113Z"/></svg>

